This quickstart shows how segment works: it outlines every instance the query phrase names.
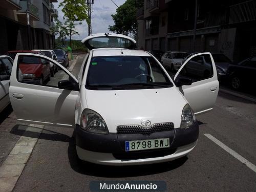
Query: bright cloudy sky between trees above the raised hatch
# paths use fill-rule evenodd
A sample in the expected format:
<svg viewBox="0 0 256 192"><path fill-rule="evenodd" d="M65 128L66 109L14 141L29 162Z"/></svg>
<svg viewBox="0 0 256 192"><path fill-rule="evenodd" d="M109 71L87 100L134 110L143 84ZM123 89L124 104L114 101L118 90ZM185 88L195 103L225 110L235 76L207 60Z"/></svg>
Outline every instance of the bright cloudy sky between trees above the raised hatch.
<svg viewBox="0 0 256 192"><path fill-rule="evenodd" d="M58 19L63 22L63 13L61 8L58 8L59 3L63 0L58 0L58 3L53 3L54 8L58 10ZM113 0L117 6L122 5L125 0ZM111 14L116 13L116 5L111 0L94 0L92 12L92 33L108 33L109 25L114 25ZM79 35L72 35L72 39L80 40L88 36L88 26L86 22L76 26L76 31Z"/></svg>

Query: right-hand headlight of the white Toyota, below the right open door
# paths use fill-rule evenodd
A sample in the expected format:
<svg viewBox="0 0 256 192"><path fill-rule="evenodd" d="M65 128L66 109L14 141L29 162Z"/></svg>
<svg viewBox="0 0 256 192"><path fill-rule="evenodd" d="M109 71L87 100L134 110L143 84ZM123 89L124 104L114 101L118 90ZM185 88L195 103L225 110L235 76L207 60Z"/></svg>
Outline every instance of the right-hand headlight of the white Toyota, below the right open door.
<svg viewBox="0 0 256 192"><path fill-rule="evenodd" d="M182 110L180 128L187 128L196 122L196 116L189 104L186 104Z"/></svg>

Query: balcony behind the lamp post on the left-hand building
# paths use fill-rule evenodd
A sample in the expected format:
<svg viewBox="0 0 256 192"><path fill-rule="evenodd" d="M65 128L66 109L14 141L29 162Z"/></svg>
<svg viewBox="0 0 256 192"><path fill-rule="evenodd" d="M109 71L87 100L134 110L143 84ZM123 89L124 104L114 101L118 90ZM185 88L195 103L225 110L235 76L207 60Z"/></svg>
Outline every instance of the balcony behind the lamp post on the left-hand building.
<svg viewBox="0 0 256 192"><path fill-rule="evenodd" d="M27 1L20 1L19 2L20 7L22 7L22 10L17 11L17 17L18 20L22 23L27 22L27 13L26 10L28 9L27 7ZM29 15L30 15L30 20L34 21L34 20L40 20L39 17L39 13L38 13L38 8L29 2Z"/></svg>

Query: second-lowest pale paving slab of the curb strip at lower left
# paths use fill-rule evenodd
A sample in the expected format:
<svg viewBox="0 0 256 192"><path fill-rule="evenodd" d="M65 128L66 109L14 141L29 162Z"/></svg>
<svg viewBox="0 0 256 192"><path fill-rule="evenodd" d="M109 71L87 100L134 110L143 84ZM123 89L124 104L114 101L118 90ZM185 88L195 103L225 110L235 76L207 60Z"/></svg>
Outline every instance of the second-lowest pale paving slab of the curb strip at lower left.
<svg viewBox="0 0 256 192"><path fill-rule="evenodd" d="M2 165L0 167L0 178L20 176L20 174L22 174L24 166L25 164Z"/></svg>

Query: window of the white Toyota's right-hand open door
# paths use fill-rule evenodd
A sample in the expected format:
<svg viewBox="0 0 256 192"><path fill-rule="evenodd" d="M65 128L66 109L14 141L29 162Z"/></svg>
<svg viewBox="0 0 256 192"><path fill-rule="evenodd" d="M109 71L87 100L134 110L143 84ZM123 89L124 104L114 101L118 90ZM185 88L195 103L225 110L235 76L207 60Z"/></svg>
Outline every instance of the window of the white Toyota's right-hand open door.
<svg viewBox="0 0 256 192"><path fill-rule="evenodd" d="M182 68L177 78L191 78L192 82L201 81L214 76L210 55L198 55L191 58Z"/></svg>

